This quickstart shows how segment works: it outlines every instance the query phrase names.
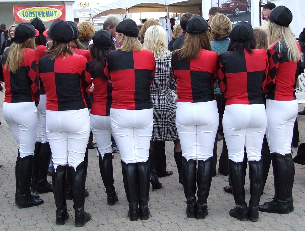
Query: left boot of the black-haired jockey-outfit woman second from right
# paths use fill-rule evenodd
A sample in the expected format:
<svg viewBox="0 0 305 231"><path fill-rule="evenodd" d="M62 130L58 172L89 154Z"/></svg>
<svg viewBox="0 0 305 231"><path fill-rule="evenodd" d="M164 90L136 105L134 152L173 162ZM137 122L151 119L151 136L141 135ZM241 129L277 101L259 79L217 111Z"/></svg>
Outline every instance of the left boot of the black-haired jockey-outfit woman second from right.
<svg viewBox="0 0 305 231"><path fill-rule="evenodd" d="M243 162L235 163L229 159L229 176L236 207L229 214L240 221L248 221L246 194L244 188Z"/></svg>

